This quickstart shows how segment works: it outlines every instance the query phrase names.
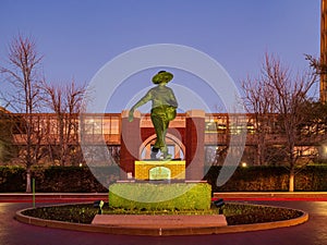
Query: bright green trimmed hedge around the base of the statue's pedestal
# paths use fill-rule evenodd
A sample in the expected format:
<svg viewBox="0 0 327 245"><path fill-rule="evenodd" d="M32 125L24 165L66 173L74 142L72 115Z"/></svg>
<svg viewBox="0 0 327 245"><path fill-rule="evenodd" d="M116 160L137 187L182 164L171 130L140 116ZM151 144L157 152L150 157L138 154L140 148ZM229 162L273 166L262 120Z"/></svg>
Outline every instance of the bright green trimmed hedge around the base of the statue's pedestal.
<svg viewBox="0 0 327 245"><path fill-rule="evenodd" d="M109 206L112 208L208 210L210 203L211 186L205 183L118 183L109 187Z"/></svg>

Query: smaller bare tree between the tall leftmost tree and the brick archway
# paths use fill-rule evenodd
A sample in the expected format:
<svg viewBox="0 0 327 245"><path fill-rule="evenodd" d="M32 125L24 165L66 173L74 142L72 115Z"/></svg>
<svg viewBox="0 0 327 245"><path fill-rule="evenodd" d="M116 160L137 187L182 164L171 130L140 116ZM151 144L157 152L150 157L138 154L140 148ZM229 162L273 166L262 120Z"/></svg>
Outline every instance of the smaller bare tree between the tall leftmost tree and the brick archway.
<svg viewBox="0 0 327 245"><path fill-rule="evenodd" d="M55 144L55 155L60 164L65 166L74 156L82 154L77 139L77 122L86 86L76 85L74 81L66 85L44 82L43 88L46 93L45 99L57 117L56 125L52 126L57 128L58 135L50 142Z"/></svg>

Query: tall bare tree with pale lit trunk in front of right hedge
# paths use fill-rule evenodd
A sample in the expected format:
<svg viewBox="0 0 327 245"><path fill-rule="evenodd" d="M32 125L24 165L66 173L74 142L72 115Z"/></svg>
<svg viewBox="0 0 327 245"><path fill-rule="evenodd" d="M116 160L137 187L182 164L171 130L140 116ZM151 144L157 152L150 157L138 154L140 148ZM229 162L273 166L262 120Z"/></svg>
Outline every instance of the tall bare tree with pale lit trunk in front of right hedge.
<svg viewBox="0 0 327 245"><path fill-rule="evenodd" d="M265 57L263 72L266 77L265 83L274 90L274 108L279 114L286 135L284 149L290 171L289 191L293 192L299 159L295 146L307 140L303 138L301 128L307 122L308 91L317 81L317 76L312 71L292 76L290 70L282 65L279 59L268 54Z"/></svg>

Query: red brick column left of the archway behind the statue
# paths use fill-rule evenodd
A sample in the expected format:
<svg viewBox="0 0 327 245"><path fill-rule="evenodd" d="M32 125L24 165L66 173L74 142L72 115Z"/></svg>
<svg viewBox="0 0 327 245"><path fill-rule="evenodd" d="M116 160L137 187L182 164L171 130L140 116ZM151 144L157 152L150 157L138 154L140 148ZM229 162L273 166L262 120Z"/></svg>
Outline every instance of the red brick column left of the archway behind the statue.
<svg viewBox="0 0 327 245"><path fill-rule="evenodd" d="M135 176L134 162L138 160L141 140L141 113L134 112L133 122L129 122L129 111L121 113L121 148L120 148L120 179L128 180L128 173Z"/></svg>

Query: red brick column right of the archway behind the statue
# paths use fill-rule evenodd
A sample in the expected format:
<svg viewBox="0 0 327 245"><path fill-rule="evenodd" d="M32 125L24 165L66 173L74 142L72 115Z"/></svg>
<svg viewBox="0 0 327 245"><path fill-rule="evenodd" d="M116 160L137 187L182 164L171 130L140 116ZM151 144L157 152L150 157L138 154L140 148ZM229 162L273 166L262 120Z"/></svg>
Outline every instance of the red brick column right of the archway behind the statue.
<svg viewBox="0 0 327 245"><path fill-rule="evenodd" d="M201 181L204 177L205 159L205 112L203 110L186 112L185 133L186 180Z"/></svg>

